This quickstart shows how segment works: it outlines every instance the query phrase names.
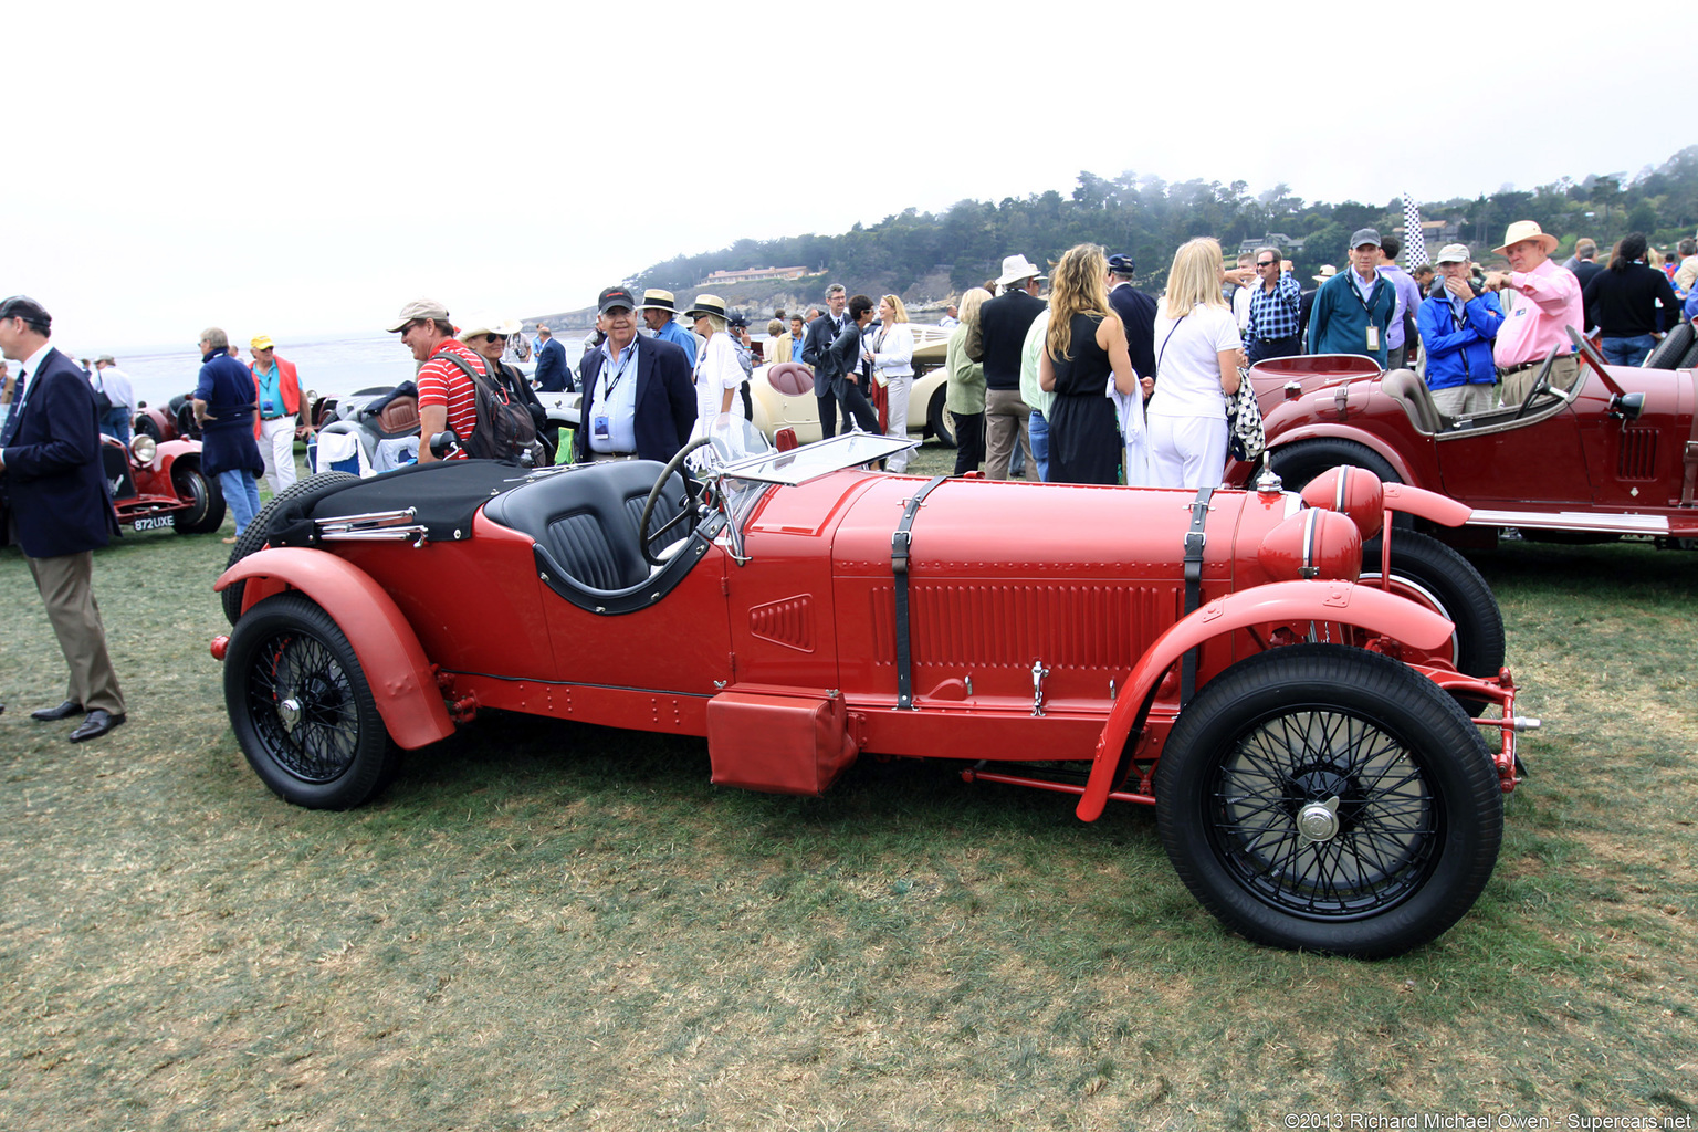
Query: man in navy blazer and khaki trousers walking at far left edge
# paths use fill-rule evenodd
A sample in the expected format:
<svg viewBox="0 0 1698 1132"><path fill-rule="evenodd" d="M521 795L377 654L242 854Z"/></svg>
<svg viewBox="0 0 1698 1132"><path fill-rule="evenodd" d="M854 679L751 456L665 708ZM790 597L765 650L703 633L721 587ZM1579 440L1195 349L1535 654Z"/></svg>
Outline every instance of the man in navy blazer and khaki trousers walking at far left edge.
<svg viewBox="0 0 1698 1132"><path fill-rule="evenodd" d="M71 731L80 743L124 723L124 694L93 596L93 550L119 531L100 465L93 389L48 343L51 331L53 317L34 299L0 302L0 351L22 361L0 431L0 490L7 536L24 550L71 670L65 703L31 715L54 721L87 713Z"/></svg>

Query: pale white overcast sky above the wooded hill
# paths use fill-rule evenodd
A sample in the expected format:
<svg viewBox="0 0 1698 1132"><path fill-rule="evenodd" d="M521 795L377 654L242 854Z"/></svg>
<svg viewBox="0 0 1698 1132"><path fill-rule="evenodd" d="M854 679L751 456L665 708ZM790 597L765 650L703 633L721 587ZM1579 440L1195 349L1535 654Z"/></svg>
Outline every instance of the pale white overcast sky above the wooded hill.
<svg viewBox="0 0 1698 1132"><path fill-rule="evenodd" d="M418 295L588 305L678 253L1066 193L1080 170L1438 200L1633 175L1698 134L1690 0L778 5L771 31L764 10L8 12L0 292L83 353L207 324L284 343Z"/></svg>

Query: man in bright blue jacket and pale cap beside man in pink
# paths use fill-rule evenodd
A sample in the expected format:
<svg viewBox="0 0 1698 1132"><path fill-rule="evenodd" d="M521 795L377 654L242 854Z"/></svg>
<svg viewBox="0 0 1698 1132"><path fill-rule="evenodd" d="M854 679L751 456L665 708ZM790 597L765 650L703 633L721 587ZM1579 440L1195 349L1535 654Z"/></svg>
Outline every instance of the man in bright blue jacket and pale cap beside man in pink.
<svg viewBox="0 0 1698 1132"><path fill-rule="evenodd" d="M1438 272L1440 285L1414 316L1426 350L1426 387L1445 416L1491 412L1498 404L1491 345L1503 326L1503 309L1498 295L1474 290L1465 246L1445 244Z"/></svg>

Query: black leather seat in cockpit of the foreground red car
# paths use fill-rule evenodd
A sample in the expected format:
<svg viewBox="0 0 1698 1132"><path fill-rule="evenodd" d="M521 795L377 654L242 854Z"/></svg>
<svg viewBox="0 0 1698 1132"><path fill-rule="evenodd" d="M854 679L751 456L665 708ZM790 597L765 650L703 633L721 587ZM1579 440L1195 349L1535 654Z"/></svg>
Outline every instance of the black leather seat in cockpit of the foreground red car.
<svg viewBox="0 0 1698 1132"><path fill-rule="evenodd" d="M560 580L598 596L618 594L649 580L637 523L662 467L654 460L623 460L557 472L491 499L484 514L530 535ZM674 474L655 504L650 530L676 516L683 497L684 479ZM669 531L666 541L678 535Z"/></svg>

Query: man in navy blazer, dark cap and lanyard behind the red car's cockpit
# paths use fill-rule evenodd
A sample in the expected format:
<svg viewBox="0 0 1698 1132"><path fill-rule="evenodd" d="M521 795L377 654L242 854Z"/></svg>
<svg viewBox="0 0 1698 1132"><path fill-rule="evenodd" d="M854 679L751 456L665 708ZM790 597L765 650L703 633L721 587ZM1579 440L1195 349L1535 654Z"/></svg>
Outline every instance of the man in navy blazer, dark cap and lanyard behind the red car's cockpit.
<svg viewBox="0 0 1698 1132"><path fill-rule="evenodd" d="M584 407L572 458L671 460L696 426L689 358L669 341L637 333L637 299L628 289L608 287L596 305L596 329L606 341L579 363Z"/></svg>

